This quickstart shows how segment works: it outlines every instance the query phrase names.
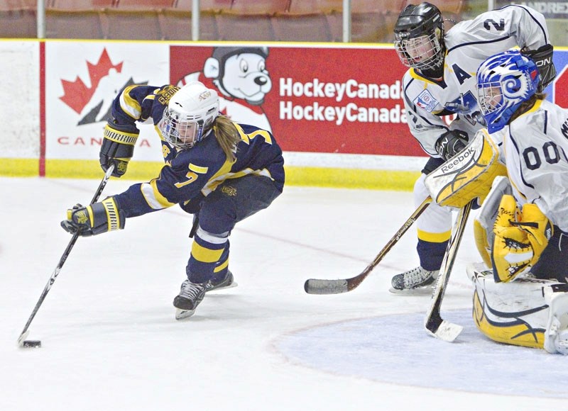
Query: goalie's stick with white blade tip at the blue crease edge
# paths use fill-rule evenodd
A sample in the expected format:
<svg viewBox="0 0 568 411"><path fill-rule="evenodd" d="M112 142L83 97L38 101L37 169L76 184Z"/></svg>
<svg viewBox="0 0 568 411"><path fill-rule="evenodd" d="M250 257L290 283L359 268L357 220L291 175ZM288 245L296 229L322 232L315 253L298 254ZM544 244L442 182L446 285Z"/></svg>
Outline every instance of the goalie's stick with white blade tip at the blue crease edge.
<svg viewBox="0 0 568 411"><path fill-rule="evenodd" d="M459 248L461 237L464 235L467 218L469 217L471 205L473 205L474 201L476 201L475 198L459 210L456 223L454 223L454 228L452 229L452 238L449 240L446 254L442 261L442 269L439 271L438 278L436 280L436 287L432 293L430 308L428 308L427 315L424 320L424 327L429 334L447 342L454 341L464 328L461 327L461 325L452 324L451 322L442 319L439 309L442 305L442 298L444 298L444 293L446 292L449 274L452 272L454 261L456 260L457 249Z"/></svg>

